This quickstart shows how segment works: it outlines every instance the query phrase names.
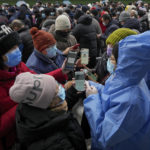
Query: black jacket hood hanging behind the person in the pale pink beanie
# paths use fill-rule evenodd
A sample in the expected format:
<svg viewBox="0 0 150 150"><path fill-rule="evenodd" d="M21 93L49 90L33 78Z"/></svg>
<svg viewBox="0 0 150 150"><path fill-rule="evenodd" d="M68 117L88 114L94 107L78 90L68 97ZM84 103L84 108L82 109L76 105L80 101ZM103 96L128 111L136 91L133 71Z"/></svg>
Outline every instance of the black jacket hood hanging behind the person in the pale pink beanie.
<svg viewBox="0 0 150 150"><path fill-rule="evenodd" d="M16 111L17 134L20 141L30 143L65 128L68 114L19 104Z"/></svg>

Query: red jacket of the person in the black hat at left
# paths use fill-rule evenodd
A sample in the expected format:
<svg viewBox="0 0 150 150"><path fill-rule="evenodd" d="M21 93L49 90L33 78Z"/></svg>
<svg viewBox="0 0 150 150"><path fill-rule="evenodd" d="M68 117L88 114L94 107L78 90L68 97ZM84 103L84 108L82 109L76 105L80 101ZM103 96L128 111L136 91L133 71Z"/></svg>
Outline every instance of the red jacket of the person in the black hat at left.
<svg viewBox="0 0 150 150"><path fill-rule="evenodd" d="M15 142L15 112L17 104L9 97L9 89L15 78L22 72L31 72L24 63L20 63L13 72L0 70L0 150L8 149ZM53 76L58 82L67 79L61 69L48 75Z"/></svg>

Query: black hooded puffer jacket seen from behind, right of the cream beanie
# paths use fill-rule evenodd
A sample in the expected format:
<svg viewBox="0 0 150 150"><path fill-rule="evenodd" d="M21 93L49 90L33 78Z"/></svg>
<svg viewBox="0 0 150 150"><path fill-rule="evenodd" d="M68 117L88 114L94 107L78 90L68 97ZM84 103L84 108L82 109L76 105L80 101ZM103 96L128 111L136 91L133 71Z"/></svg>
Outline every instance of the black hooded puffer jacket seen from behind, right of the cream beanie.
<svg viewBox="0 0 150 150"><path fill-rule="evenodd" d="M78 43L80 43L80 48L89 49L90 66L94 67L96 64L95 58L97 56L97 34L95 25L92 24L92 17L89 15L81 16L72 34L76 37Z"/></svg>

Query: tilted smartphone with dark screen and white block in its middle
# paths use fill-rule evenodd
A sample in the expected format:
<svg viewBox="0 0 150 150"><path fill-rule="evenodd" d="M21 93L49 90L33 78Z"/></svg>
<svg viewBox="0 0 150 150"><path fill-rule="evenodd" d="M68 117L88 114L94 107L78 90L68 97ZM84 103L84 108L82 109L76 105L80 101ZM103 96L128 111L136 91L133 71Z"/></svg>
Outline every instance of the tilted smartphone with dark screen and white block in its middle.
<svg viewBox="0 0 150 150"><path fill-rule="evenodd" d="M76 61L77 52L69 51L67 56L67 62L65 66L65 70L73 71L74 70L74 64Z"/></svg>

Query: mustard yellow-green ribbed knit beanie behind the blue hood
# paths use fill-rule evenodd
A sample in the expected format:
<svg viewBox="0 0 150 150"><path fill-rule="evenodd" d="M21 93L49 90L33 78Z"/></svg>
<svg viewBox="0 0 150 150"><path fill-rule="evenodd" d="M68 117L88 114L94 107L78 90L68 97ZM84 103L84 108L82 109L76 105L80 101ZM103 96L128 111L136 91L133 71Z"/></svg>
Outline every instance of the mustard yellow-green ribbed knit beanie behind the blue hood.
<svg viewBox="0 0 150 150"><path fill-rule="evenodd" d="M120 40L124 39L125 37L129 35L134 35L134 34L137 34L137 33L128 28L117 29L108 36L106 40L106 45L112 44L114 46Z"/></svg>

